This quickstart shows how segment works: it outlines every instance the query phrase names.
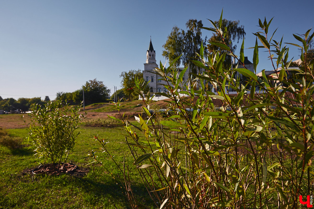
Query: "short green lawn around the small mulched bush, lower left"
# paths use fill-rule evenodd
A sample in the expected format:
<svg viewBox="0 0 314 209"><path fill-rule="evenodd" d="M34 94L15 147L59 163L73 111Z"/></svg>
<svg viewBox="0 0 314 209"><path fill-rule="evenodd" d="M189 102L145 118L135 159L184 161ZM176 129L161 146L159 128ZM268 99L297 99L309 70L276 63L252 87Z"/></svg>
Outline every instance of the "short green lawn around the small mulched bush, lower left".
<svg viewBox="0 0 314 209"><path fill-rule="evenodd" d="M98 150L100 144L94 135L109 141L107 148L116 161L122 165L124 156L128 164L133 163L125 141L125 131L115 128L88 128L81 126L74 150L68 162L84 167L92 161L84 158L91 150ZM26 129L8 129L11 136L27 137ZM27 144L28 140L24 140ZM33 156L31 143L22 149L10 150L0 146L0 208L127 208L127 202L111 175L99 165L91 164L84 177L71 175L22 175L24 170L42 163ZM100 154L103 164L116 175L118 170L106 154ZM145 187L138 182L138 173L130 166L134 191L142 201L152 205Z"/></svg>

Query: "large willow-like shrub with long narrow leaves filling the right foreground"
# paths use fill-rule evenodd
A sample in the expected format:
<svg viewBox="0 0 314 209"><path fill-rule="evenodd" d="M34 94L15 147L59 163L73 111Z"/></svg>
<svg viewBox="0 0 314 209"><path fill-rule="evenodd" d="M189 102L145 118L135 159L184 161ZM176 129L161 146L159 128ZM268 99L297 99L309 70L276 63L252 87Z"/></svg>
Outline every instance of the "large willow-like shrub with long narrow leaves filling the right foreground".
<svg viewBox="0 0 314 209"><path fill-rule="evenodd" d="M311 195L314 189L313 63L305 62L305 70L299 71L302 79L291 82L285 73L291 63L289 48L282 40L269 38L271 20L265 18L263 23L259 20L262 32L255 34L260 44L256 42L253 64L256 68L257 49L263 48L269 52L274 70L275 66L283 67L276 72L278 77L270 82L265 73L259 78L245 68L225 68L226 54L234 56L234 52L224 40L222 16L218 22L210 22L213 27L206 29L216 33L221 41L215 44L225 52L212 53L205 60L200 50L199 60L193 63L204 69L202 75L196 75L202 88L179 85L181 75L167 76L179 73L172 66L156 69L169 92L159 93L169 98L169 117L160 122L161 128L156 127L157 121L149 112L151 98L144 101L147 118L140 114L135 117L140 128L129 123L116 103L120 113L116 120L128 133L126 143L133 165L157 208L299 208L299 196ZM308 49L304 40L311 41L313 36L310 30L302 37L295 35L304 49L302 60ZM234 57L241 61L242 53L240 59ZM246 86L233 79L235 73L246 77ZM205 89L208 84L218 95ZM248 86L259 88L260 93L249 94ZM238 94L225 93L226 87ZM180 97L179 92L188 97ZM222 107L215 108L214 100ZM127 167L117 163L104 141L99 142L124 176L116 180L125 185L122 190L130 207L142 206L134 197ZM100 162L95 153L91 157Z"/></svg>

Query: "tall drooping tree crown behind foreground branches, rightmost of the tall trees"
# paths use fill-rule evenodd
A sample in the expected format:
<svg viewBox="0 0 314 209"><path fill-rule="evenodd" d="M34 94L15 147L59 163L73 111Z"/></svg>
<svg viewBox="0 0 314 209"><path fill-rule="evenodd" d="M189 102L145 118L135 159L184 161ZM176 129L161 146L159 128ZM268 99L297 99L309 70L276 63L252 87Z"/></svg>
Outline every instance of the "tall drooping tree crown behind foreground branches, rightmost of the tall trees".
<svg viewBox="0 0 314 209"><path fill-rule="evenodd" d="M214 24L218 27L219 21L215 21ZM208 42L214 42L214 43L225 43L231 51L235 51L237 48L237 45L234 44L234 42L239 43L240 39L244 39L245 31L244 26L239 26L239 20L231 21L227 19L222 19L220 29L222 30L222 33L213 33L213 36L210 37ZM208 53L212 54L214 52L219 51L219 54L222 55L223 53L227 52L225 49L214 45L214 44L208 44L207 45ZM224 67L227 69L231 65L231 56L226 55L226 59L224 61Z"/></svg>

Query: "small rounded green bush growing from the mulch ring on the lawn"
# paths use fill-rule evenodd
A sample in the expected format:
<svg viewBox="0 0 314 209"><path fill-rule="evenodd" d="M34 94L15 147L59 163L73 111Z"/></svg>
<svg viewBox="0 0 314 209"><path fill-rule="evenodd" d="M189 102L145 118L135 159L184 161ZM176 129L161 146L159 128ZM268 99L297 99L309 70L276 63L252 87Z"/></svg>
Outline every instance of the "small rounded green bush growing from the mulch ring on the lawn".
<svg viewBox="0 0 314 209"><path fill-rule="evenodd" d="M39 158L50 159L52 163L58 164L65 160L66 153L73 149L75 138L79 134L74 131L83 120L80 108L81 106L68 104L62 107L62 101L48 102L43 107L34 105L27 126L36 147L34 151ZM26 124L25 120L24 123Z"/></svg>

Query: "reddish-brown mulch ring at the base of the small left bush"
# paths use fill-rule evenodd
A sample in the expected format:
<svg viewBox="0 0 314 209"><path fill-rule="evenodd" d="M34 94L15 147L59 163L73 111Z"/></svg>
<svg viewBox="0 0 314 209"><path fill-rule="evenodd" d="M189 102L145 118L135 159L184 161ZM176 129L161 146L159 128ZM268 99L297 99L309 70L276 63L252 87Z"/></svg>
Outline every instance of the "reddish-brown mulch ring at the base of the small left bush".
<svg viewBox="0 0 314 209"><path fill-rule="evenodd" d="M72 163L60 164L58 169L58 164L45 164L36 168L24 170L23 174L33 174L33 175L60 175L68 174L76 177L83 177L89 171L88 168L80 168Z"/></svg>

